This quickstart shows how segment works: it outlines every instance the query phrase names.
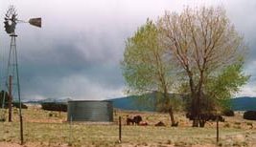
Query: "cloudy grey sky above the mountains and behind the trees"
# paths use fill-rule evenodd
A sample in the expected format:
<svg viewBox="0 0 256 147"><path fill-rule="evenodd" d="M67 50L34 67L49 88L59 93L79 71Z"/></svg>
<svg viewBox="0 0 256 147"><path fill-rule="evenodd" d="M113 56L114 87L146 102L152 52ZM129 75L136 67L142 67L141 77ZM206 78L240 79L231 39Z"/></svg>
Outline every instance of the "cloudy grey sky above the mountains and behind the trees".
<svg viewBox="0 0 256 147"><path fill-rule="evenodd" d="M256 1L252 0L1 0L0 19L14 5L18 18L42 17L42 28L16 26L22 99L125 96L120 69L125 41L147 18L165 10L221 6L249 47L249 82L236 96L256 96ZM0 76L4 88L10 36L0 23Z"/></svg>

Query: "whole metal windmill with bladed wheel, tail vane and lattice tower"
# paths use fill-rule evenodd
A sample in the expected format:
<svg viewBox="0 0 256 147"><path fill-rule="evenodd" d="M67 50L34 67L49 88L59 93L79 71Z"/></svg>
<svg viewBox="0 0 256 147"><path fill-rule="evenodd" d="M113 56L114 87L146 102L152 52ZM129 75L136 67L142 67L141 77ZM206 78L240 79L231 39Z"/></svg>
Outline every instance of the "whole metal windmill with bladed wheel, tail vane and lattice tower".
<svg viewBox="0 0 256 147"><path fill-rule="evenodd" d="M15 27L18 23L29 23L35 27L41 28L41 18L31 18L29 21L19 20L17 18L17 12L13 6L7 10L5 16L5 31L11 36L11 46L8 57L8 68L7 68L7 80L6 86L9 93L9 121L12 121L12 92L16 88L17 98L19 103L19 120L20 120L20 140L23 144L23 121L21 112L21 98L20 98L20 84L19 84L19 74L18 74L18 60L17 60L17 50L16 50L16 37ZM14 88L15 86L15 88ZM4 93L5 94L5 93ZM5 95L4 98L5 99ZM4 101L4 100L3 100Z"/></svg>

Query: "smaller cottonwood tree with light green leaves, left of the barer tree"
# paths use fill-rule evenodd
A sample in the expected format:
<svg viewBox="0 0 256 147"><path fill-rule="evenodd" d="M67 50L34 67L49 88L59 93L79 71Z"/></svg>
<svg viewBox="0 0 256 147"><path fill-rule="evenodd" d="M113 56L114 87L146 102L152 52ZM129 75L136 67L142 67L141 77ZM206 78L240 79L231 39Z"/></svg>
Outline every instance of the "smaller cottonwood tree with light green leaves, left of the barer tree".
<svg viewBox="0 0 256 147"><path fill-rule="evenodd" d="M123 75L128 94L148 94L159 92L157 104L168 109L172 125L175 125L173 107L170 103L173 86L172 64L159 41L159 31L148 20L134 35L128 38L122 61Z"/></svg>

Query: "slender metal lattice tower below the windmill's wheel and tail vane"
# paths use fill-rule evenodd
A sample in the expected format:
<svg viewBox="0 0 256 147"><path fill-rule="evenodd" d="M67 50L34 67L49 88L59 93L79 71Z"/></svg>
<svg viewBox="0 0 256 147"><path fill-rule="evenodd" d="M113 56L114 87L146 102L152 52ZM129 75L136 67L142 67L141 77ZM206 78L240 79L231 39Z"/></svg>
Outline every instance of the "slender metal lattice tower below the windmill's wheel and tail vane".
<svg viewBox="0 0 256 147"><path fill-rule="evenodd" d="M20 85L19 85L19 74L18 74L18 61L17 61L17 50L16 50L16 37L15 33L11 35L11 46L8 58L8 69L7 69L7 86L9 89L10 100L12 101L14 93L13 90L17 91L17 98L19 102L19 119L20 119L20 140L23 144L23 120L22 120L22 110L21 110L21 98L20 98ZM10 110L11 121L12 121L12 107Z"/></svg>

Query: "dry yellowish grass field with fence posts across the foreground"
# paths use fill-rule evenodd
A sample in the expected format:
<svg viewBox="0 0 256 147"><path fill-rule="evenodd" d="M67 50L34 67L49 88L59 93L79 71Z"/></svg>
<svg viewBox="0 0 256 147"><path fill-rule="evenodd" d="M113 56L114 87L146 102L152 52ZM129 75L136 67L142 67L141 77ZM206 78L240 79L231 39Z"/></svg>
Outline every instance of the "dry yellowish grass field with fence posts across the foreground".
<svg viewBox="0 0 256 147"><path fill-rule="evenodd" d="M66 122L66 113L42 111L29 107L24 114L25 146L216 146L216 123L192 128L182 113L178 127L170 127L169 116L158 113L115 111L113 123ZM51 115L51 116L50 116ZM118 116L122 116L122 143L118 142ZM142 115L149 126L127 126L127 115ZM256 122L244 120L242 114L225 117L220 123L219 146L256 146ZM155 127L163 121L166 127ZM0 146L19 146L17 110L12 122L0 122Z"/></svg>

